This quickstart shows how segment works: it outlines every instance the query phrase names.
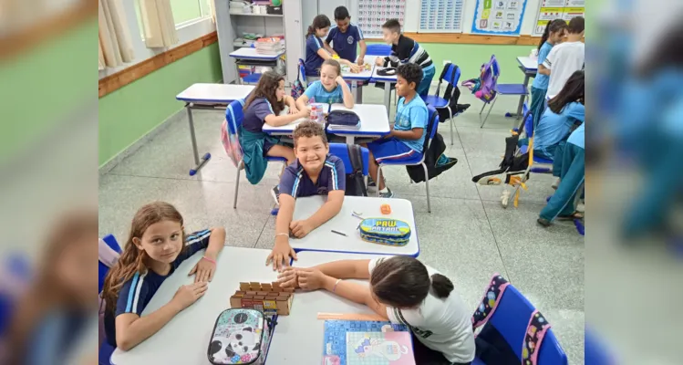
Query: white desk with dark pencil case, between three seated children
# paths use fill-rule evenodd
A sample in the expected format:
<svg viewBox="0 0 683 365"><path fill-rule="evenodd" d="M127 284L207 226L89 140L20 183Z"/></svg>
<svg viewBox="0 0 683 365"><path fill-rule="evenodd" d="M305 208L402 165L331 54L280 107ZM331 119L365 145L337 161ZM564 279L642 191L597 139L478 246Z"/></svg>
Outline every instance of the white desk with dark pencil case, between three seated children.
<svg viewBox="0 0 683 365"><path fill-rule="evenodd" d="M349 110L342 104L332 104L330 110ZM390 131L387 113L385 108L377 104L357 104L353 109L360 118L359 130L327 130L330 133L344 136L347 138L347 144L354 144L357 137L379 138L387 135ZM264 132L274 136L290 136L294 133L296 126L305 118L295 120L289 124L280 127L272 127L264 124Z"/></svg>

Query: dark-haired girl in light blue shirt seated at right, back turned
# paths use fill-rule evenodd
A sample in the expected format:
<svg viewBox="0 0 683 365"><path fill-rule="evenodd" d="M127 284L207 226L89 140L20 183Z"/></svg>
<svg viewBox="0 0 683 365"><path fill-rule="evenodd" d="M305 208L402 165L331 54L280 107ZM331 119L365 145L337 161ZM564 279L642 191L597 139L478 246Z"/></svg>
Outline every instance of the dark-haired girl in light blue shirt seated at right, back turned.
<svg viewBox="0 0 683 365"><path fill-rule="evenodd" d="M585 120L584 98L584 71L575 71L560 93L548 101L533 130L533 153L554 159L557 145L566 140L574 125Z"/></svg>

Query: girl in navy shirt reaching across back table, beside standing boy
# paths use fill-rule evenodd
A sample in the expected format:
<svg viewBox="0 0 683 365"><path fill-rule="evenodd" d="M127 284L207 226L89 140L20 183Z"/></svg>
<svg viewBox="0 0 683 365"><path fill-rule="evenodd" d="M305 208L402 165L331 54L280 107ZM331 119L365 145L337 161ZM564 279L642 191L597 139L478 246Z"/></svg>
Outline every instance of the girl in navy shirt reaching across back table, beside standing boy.
<svg viewBox="0 0 683 365"><path fill-rule="evenodd" d="M323 62L332 59L332 56L325 49L325 42L322 39L327 35L330 25L329 18L321 14L314 17L313 23L308 26L308 32L305 35L305 76L317 77L320 75ZM360 67L353 60L340 58L339 62L351 68L352 72L360 70Z"/></svg>

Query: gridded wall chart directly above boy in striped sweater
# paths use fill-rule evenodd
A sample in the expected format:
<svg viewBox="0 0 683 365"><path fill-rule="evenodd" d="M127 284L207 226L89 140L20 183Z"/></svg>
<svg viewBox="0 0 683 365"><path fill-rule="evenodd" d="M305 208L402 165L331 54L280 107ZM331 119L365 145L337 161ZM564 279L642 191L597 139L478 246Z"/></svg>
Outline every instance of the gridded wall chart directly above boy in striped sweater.
<svg viewBox="0 0 683 365"><path fill-rule="evenodd" d="M366 38L381 38L382 25L388 19L398 19L403 26L406 0L358 0L357 25Z"/></svg>

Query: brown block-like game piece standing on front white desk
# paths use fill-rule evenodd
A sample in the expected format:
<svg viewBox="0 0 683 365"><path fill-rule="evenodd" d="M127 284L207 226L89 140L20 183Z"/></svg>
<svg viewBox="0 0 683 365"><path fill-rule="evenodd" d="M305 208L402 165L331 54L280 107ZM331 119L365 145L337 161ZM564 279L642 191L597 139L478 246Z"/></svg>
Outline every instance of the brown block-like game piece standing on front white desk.
<svg viewBox="0 0 683 365"><path fill-rule="evenodd" d="M294 299L294 288L280 287L279 283L240 283L240 290L230 297L231 308L254 308L265 315L289 315Z"/></svg>

